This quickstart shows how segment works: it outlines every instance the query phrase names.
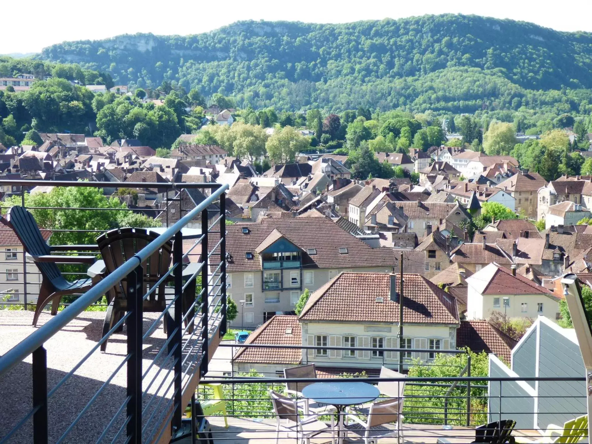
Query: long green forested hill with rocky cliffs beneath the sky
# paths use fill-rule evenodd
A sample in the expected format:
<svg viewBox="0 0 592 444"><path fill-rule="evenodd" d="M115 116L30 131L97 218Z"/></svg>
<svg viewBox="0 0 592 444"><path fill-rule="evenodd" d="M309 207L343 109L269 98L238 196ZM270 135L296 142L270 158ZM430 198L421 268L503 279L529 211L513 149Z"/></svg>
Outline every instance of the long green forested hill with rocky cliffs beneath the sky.
<svg viewBox="0 0 592 444"><path fill-rule="evenodd" d="M464 15L349 24L246 21L194 36L65 42L40 57L107 71L115 83L151 88L169 80L255 107L535 108L556 102L534 97L536 90L565 95L566 88L592 88L592 34ZM440 88L422 83L425 76ZM458 91L448 86L455 82Z"/></svg>

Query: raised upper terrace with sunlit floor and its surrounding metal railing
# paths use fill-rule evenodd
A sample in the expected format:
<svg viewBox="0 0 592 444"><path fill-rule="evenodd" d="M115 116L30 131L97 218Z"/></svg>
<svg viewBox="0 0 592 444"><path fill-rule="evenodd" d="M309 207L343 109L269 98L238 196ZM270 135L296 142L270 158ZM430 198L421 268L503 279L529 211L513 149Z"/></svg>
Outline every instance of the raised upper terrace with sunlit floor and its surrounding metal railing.
<svg viewBox="0 0 592 444"><path fill-rule="evenodd" d="M13 184L30 189L47 186L48 182L0 181L0 185ZM109 185L57 181L50 184L95 188ZM139 246L135 254L131 253L131 257L110 274L101 275L90 289L63 299L55 316L50 314L52 304L49 304L41 311L37 327L31 326L34 316L31 309L38 296L40 269L22 251L17 252L17 259L12 259L12 252L7 260L4 254L0 256L5 266L17 268L8 265L17 263L20 267L16 272L17 280L7 282L12 288L18 288L18 301L12 296L14 292L0 301L0 308L4 308L0 310L2 444L153 443L169 442L173 436L185 433L182 427L185 405L208 372L214 351L226 333L224 191L227 186L144 182L124 182L118 186L168 188L176 192L171 202L180 201L185 188L208 189L210 195L195 202L192 209L181 208L181 214L177 211L171 217L176 220L174 224L159 229L153 240ZM211 205L216 202L219 209L213 214ZM169 205L157 210L160 220L167 220L167 225L168 216L164 213L168 214L168 210ZM197 223L201 224L201 230L191 229L191 233L185 230L197 219L200 219ZM0 229L7 230L2 227ZM54 234L60 232L53 231ZM186 233L191 240L186 238ZM100 234L102 231L92 231L92 236ZM169 245L172 249L167 250ZM107 262L107 258L98 254L98 247L93 250L92 246L66 245L60 251L72 256L76 254L73 251L80 252L81 247L85 251L87 247L91 249L90 254L99 259L95 263L100 263L100 259ZM143 282L155 254L160 258L170 254L168 271L164 269L157 282ZM69 261L73 262L71 258ZM83 274L72 268L60 271L70 280ZM201 281L195 294L193 291L186 294L186 288L191 288L188 285L197 277L201 277ZM126 310L112 324L105 324L105 314L110 311L101 301L115 288L122 289ZM165 307L154 310L159 305L153 304L156 299L152 295L161 291L160 301L167 295ZM191 301L186 305L188 295ZM106 350L101 352L105 344Z"/></svg>

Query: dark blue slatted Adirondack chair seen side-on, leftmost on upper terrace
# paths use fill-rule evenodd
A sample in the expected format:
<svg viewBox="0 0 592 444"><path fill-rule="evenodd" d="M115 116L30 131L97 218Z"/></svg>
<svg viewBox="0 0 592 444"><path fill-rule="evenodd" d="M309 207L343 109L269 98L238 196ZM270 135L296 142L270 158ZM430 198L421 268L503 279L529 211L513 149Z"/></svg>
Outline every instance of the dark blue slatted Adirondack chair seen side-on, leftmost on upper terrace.
<svg viewBox="0 0 592 444"><path fill-rule="evenodd" d="M52 252L55 251L96 250L96 245L48 245L41 235L33 214L20 206L10 208L6 219L2 218L1 221L14 230L25 252L33 259L41 272L41 287L33 315L34 326L37 325L39 315L47 304L52 303L52 315L55 316L62 296L82 294L101 279L98 276L95 279L86 278L70 282L62 276L56 265L57 263L92 264L96 261L95 256L52 255Z"/></svg>

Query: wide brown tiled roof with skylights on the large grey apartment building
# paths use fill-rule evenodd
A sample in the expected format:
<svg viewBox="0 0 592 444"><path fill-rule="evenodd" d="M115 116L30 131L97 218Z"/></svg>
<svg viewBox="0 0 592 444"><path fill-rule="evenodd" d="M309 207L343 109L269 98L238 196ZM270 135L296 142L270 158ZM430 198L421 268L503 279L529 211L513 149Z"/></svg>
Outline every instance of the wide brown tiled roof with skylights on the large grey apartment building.
<svg viewBox="0 0 592 444"><path fill-rule="evenodd" d="M249 230L243 234L243 228ZM390 269L398 263L390 248L372 248L326 217L265 218L256 224L234 224L226 229L226 251L231 260L227 271L255 271L261 269L257 247L269 234L278 230L286 239L304 251L316 249L316 255L303 253L304 268L352 268L384 266ZM215 244L215 243L212 243ZM348 249L340 254L339 248ZM245 253L253 253L246 259Z"/></svg>

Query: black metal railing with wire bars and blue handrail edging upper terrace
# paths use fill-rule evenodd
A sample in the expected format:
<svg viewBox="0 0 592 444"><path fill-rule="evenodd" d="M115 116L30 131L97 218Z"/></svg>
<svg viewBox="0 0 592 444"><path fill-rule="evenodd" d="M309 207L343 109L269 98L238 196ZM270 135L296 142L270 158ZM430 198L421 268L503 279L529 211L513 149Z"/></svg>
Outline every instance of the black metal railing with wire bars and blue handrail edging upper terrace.
<svg viewBox="0 0 592 444"><path fill-rule="evenodd" d="M21 186L48 185L45 181L0 181L0 185L7 182ZM102 182L50 184L101 188L106 185ZM181 433L186 403L192 397L198 379L208 371L210 346L217 345L226 333L224 193L228 186L144 182L121 185L179 190L185 186L210 188L211 194L186 215L180 215L175 224L123 265L0 356L2 404L24 407L30 403L31 398L21 391L11 392L11 388L19 385L30 387L33 398L31 408L27 408L22 417L13 417L0 427L1 444L152 443ZM218 201L219 212L214 218L208 214L208 207ZM198 217L201 217L201 236L184 252L181 230ZM143 285L144 264L171 240L172 266L152 287L146 288ZM184 263L198 245L201 246L200 262L191 269L191 275L183 275ZM184 292L196 279L199 285L192 303L184 306ZM144 313L147 298L152 293L160 293L163 286L170 285L168 282L173 286L168 287L171 297L166 299L166 306L156 313ZM122 283L125 284L121 288L124 288L127 311L110 328L104 327L102 337L95 336L83 350L76 350L67 342L56 345L60 338L67 339L70 322ZM107 311L107 316L109 313ZM164 337L159 336L161 324L167 330ZM124 336L118 336L124 325ZM113 353L107 349L107 353L100 354L99 348L107 340L114 348L117 348L117 342L124 342L126 351L118 349ZM47 343L52 346L47 348ZM67 365L70 353L83 357ZM29 356L30 368L27 364ZM56 361L56 356L66 362ZM101 368L100 377L82 377L81 369L92 366ZM31 385L24 380L26 375L31 375Z"/></svg>

